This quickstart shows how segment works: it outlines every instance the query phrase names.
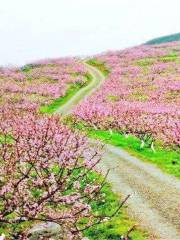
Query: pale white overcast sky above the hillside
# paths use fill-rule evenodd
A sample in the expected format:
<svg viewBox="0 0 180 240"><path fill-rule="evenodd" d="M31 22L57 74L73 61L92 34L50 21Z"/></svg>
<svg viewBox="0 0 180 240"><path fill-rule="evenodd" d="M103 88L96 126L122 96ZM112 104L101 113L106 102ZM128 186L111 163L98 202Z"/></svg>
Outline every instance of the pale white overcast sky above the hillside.
<svg viewBox="0 0 180 240"><path fill-rule="evenodd" d="M0 0L0 65L95 54L180 32L180 0Z"/></svg>

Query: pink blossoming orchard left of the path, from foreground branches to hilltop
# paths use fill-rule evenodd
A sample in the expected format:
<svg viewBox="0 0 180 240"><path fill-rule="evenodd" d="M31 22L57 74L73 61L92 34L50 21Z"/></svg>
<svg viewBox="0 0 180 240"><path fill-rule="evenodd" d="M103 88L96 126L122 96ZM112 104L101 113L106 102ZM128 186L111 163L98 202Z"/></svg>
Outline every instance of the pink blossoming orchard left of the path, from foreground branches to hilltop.
<svg viewBox="0 0 180 240"><path fill-rule="evenodd" d="M82 239L84 230L107 217L91 210L104 201L98 147L59 116L38 113L68 84L83 84L86 73L76 59L0 70L0 230L8 239L29 239L39 222L59 224L59 239Z"/></svg>

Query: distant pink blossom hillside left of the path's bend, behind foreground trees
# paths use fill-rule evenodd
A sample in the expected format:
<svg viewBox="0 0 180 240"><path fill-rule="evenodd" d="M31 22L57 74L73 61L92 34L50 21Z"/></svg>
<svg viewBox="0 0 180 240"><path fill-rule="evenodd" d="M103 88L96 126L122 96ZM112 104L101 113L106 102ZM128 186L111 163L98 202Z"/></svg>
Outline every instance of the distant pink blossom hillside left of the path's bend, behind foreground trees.
<svg viewBox="0 0 180 240"><path fill-rule="evenodd" d="M43 60L22 68L1 68L0 106L38 109L64 96L71 85L83 85L86 74L76 59Z"/></svg>

